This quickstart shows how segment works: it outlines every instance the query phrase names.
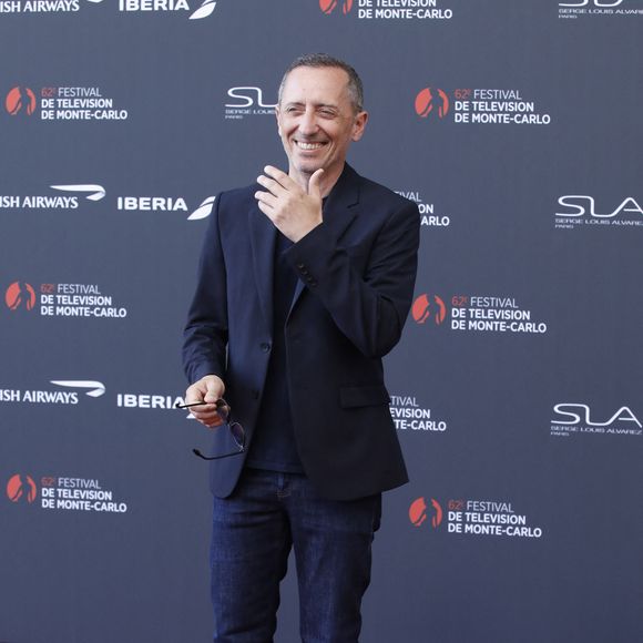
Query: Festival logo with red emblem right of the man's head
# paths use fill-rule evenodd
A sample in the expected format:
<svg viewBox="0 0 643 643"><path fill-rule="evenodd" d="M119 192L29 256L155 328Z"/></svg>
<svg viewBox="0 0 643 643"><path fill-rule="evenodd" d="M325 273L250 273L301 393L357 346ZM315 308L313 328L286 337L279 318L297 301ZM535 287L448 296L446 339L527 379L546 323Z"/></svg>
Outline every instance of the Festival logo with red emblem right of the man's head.
<svg viewBox="0 0 643 643"><path fill-rule="evenodd" d="M452 92L427 86L415 99L419 119L455 124L549 125L551 115L520 90L457 89ZM435 118L433 118L435 116Z"/></svg>

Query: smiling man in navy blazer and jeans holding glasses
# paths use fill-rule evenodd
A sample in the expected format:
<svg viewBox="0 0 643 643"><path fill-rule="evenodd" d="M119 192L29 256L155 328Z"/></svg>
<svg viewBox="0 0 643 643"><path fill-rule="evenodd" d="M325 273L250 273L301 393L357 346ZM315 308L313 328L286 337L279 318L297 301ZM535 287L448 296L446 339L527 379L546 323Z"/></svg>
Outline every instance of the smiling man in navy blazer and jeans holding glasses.
<svg viewBox="0 0 643 643"><path fill-rule="evenodd" d="M351 67L297 59L276 115L288 173L216 200L185 328L186 404L216 427L225 396L245 432L211 467L214 640L273 640L294 547L302 640L354 643L381 492L407 481L381 357L412 299L419 213L346 164L368 120ZM214 453L231 450L217 429Z"/></svg>

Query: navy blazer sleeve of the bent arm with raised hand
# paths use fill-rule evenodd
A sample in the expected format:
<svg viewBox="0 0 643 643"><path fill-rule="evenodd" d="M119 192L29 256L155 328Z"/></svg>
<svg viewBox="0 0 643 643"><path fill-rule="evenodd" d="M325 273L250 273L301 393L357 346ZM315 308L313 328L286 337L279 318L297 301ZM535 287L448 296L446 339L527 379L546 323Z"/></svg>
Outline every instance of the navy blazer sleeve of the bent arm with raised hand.
<svg viewBox="0 0 643 643"><path fill-rule="evenodd" d="M412 302L419 226L417 205L406 202L380 228L364 274L324 223L287 251L302 282L367 357L382 357L401 336Z"/></svg>

